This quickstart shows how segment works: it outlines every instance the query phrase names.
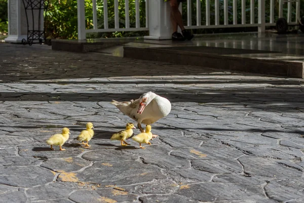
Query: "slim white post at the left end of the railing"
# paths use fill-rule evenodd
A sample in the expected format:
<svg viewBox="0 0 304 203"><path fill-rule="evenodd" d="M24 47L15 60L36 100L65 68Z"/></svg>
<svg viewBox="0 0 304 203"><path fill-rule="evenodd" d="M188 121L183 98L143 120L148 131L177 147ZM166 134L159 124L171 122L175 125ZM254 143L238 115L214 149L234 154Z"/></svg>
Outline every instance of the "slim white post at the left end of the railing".
<svg viewBox="0 0 304 203"><path fill-rule="evenodd" d="M86 39L85 0L77 0L78 40Z"/></svg>

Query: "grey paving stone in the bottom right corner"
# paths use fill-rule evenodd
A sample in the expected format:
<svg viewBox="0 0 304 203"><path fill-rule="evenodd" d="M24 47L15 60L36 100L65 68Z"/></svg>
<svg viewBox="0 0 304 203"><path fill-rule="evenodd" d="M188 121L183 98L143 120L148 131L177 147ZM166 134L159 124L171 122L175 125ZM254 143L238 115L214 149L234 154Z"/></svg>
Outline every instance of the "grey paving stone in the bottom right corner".
<svg viewBox="0 0 304 203"><path fill-rule="evenodd" d="M288 200L304 198L303 187L304 182L302 178L281 180L276 179L270 181L265 186L265 191L272 199L280 202L289 202Z"/></svg>

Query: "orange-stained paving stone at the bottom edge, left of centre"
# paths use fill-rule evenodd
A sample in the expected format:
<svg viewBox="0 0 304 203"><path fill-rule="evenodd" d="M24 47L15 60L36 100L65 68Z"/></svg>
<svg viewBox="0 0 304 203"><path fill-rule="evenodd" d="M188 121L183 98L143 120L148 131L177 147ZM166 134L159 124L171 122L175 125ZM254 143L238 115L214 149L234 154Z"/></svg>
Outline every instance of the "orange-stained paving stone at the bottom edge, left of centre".
<svg viewBox="0 0 304 203"><path fill-rule="evenodd" d="M81 192L73 192L69 198L74 202L79 203L134 202L137 200L137 195L117 187L117 189L82 190Z"/></svg>

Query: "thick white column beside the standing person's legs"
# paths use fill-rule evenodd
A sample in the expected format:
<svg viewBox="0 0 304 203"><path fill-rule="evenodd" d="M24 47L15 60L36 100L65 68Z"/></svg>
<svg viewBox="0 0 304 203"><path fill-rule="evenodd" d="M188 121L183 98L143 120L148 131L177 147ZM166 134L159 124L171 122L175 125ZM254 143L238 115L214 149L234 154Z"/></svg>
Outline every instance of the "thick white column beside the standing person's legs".
<svg viewBox="0 0 304 203"><path fill-rule="evenodd" d="M147 40L170 40L172 26L170 20L170 5L164 0L149 1L149 36Z"/></svg>

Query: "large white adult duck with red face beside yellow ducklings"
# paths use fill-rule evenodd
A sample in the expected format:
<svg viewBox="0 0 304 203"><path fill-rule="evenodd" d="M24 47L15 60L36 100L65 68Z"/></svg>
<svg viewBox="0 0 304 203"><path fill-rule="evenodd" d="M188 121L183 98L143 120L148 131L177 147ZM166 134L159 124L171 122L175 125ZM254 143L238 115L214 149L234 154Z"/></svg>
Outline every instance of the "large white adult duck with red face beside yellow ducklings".
<svg viewBox="0 0 304 203"><path fill-rule="evenodd" d="M123 114L137 121L141 132L144 132L141 123L146 125L155 123L171 111L170 101L153 92L144 93L139 99L131 101L112 100L111 104L115 105ZM155 138L156 135L153 137Z"/></svg>

